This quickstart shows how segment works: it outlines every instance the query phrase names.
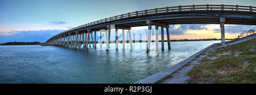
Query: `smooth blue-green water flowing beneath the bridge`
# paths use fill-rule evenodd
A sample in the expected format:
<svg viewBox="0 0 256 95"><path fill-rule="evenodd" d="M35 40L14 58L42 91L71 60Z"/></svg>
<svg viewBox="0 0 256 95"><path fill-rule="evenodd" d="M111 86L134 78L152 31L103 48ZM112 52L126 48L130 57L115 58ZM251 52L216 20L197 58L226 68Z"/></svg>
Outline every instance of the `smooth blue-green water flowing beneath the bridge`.
<svg viewBox="0 0 256 95"><path fill-rule="evenodd" d="M122 43L119 50L110 44L104 48L67 48L57 46L41 47L0 46L0 83L133 83L162 71L212 43L220 41L171 42L168 50L155 53L151 43L151 55L146 53L146 43Z"/></svg>

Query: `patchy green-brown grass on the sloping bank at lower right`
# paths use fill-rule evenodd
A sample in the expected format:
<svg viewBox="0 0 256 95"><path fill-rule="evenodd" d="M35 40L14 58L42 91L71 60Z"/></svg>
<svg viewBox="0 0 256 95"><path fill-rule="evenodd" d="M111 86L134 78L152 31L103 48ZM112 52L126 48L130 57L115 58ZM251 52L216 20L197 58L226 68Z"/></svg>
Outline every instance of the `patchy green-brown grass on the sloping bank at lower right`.
<svg viewBox="0 0 256 95"><path fill-rule="evenodd" d="M253 50L251 50L253 49ZM223 53L228 55L220 55ZM238 55L238 56L236 56ZM217 57L211 60L208 57ZM243 64L247 61L249 64ZM256 39L219 48L187 73L188 83L256 83Z"/></svg>

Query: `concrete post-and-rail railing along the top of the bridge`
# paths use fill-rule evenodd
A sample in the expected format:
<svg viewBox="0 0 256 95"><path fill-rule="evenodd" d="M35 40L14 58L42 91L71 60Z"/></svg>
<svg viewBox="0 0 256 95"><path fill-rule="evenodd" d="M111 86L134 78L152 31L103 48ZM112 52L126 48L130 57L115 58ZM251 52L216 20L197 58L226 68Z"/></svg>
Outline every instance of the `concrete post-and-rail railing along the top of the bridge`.
<svg viewBox="0 0 256 95"><path fill-rule="evenodd" d="M134 11L132 13L126 13L126 14L112 16L110 18L100 19L100 20L97 20L94 22L90 22L87 24L83 24L81 26L71 28L64 32L73 31L73 30L77 30L79 28L92 26L94 24L109 22L112 20L118 20L118 19L122 19L122 18L129 18L129 17L133 17L133 16L157 14L157 13L168 13L168 12L174 12L174 11L195 11L195 10L209 10L209 11L210 10L222 10L222 11L229 10L229 11L256 12L256 7L240 6L240 5L187 5L187 6L162 7L162 8L158 8L158 9L156 8L156 9L150 9L150 10ZM63 34L64 32L60 32L57 35Z"/></svg>

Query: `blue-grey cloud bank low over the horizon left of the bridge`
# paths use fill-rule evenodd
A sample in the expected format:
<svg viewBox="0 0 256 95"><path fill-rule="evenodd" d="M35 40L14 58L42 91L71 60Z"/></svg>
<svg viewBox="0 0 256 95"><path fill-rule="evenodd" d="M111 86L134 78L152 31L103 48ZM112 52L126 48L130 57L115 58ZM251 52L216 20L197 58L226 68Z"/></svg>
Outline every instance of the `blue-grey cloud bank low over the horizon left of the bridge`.
<svg viewBox="0 0 256 95"><path fill-rule="evenodd" d="M0 35L0 43L6 42L46 42L53 35L65 30L36 30L36 31L13 31L13 35Z"/></svg>

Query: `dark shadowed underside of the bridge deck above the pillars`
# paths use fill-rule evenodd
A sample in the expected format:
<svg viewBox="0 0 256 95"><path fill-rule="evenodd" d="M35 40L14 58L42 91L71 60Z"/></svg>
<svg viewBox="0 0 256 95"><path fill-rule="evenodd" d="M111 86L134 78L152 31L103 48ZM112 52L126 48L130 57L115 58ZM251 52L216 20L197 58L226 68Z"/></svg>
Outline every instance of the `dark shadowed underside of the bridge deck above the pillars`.
<svg viewBox="0 0 256 95"><path fill-rule="evenodd" d="M146 20L163 24L220 24L220 18L225 18L225 24L256 25L256 14L242 11L240 13L230 11L183 11L182 13L159 13L152 15L138 16L137 18L118 19L115 22L103 23L103 26L91 27L96 30L108 29L106 25L114 24L121 27L147 26ZM105 26L105 27L104 27Z"/></svg>

